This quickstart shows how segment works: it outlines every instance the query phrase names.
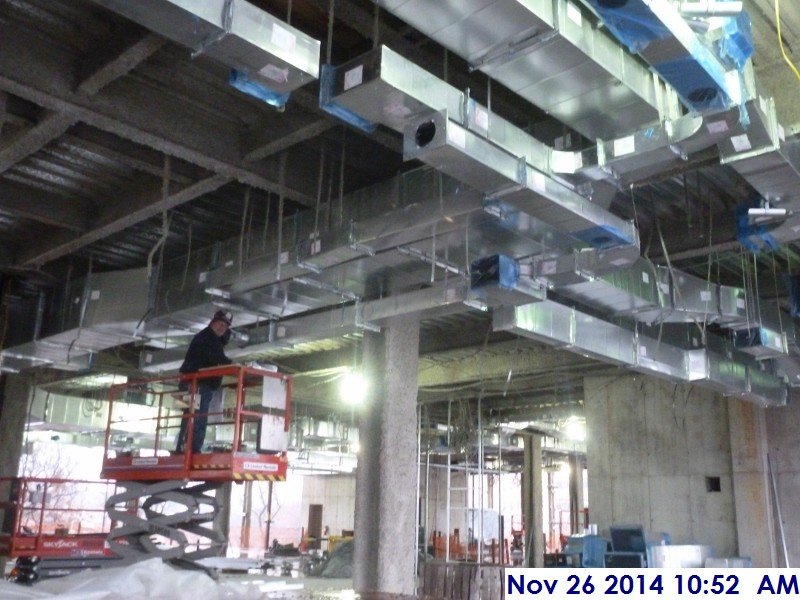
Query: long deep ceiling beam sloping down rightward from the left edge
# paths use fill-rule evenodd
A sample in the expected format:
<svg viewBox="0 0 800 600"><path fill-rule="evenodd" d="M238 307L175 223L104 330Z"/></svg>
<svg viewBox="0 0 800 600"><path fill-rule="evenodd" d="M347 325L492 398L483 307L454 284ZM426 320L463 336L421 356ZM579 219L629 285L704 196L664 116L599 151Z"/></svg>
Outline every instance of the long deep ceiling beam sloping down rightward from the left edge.
<svg viewBox="0 0 800 600"><path fill-rule="evenodd" d="M199 115L186 104L165 98L155 87L146 89L141 82L126 79L86 97L72 90L77 68L63 55L45 52L42 44L21 31L0 38L0 89L225 178L306 206L314 204L313 182L306 182L308 192L298 191L248 165L239 155L239 131L229 122Z"/></svg>

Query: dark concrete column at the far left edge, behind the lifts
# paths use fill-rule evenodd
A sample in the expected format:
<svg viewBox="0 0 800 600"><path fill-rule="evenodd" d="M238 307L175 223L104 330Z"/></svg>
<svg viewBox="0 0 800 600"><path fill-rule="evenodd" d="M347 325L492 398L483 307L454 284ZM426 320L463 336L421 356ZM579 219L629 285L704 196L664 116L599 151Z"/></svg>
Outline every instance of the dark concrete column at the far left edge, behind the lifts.
<svg viewBox="0 0 800 600"><path fill-rule="evenodd" d="M0 387L0 477L14 477L22 456L25 437L25 421L32 382L24 374L6 375L5 385Z"/></svg>

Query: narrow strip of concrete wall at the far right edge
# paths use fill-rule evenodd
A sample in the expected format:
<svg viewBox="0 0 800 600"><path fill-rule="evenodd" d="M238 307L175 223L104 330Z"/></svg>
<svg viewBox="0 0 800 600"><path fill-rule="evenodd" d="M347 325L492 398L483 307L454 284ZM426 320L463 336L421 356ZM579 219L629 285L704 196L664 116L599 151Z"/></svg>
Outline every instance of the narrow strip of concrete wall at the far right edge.
<svg viewBox="0 0 800 600"><path fill-rule="evenodd" d="M765 409L769 457L775 472L790 567L800 565L800 403ZM780 530L777 537L777 564L784 566Z"/></svg>

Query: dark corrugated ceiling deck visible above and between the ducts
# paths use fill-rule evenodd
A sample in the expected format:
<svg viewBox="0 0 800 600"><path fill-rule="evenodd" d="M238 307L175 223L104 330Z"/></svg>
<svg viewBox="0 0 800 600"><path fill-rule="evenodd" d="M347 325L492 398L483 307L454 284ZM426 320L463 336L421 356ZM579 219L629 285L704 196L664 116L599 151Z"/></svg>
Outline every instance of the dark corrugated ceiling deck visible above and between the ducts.
<svg viewBox="0 0 800 600"><path fill-rule="evenodd" d="M323 40L324 57L328 0L252 2L281 18L291 5L292 25ZM375 7L368 0L333 5L331 58L340 64L373 46ZM775 97L787 130L798 132L800 80L780 52L773 0L745 5L753 22L756 74ZM381 14L378 24L381 43L457 87L469 87L486 103L485 76L391 16ZM788 0L781 31L789 58L800 62L800 7ZM88 0L0 2L0 272L6 314L19 299L63 286L88 269L144 265L162 235L164 259L179 257L235 237L244 227L266 231L278 220L280 199L284 215L314 210L340 189L348 193L414 166L403 163L398 135L383 129L365 134L342 124L318 109L317 92L316 84L296 91L278 112L231 88L222 65L193 60L187 49ZM552 124L499 85L491 94L492 109L520 127ZM720 280L741 282L734 209L753 190L735 172L719 166L717 156L701 155L680 170L636 184L635 192L614 195L611 210L637 219L646 254L663 260L666 249L680 268L705 276L713 266ZM761 259L762 294L783 297L778 277L770 273L792 272L798 261L794 245ZM3 331L9 329L13 323L6 322ZM473 333L465 335L465 329ZM425 322L423 400L491 397L498 414L511 418L520 406L573 403L581 395L575 374L590 363L509 342L487 329L488 321L480 318ZM320 361L348 364L353 343L267 358L287 370L310 372ZM464 348L466 354L450 354ZM487 364L492 368L481 371ZM447 391L453 382L466 387ZM327 410L332 393L300 385L298 394Z"/></svg>

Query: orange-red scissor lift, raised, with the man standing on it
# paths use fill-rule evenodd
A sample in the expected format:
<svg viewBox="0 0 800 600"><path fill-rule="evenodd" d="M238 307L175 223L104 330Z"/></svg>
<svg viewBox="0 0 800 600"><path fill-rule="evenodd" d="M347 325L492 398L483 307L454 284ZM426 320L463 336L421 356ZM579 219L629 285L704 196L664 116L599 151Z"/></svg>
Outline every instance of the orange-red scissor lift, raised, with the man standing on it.
<svg viewBox="0 0 800 600"><path fill-rule="evenodd" d="M222 377L224 400L209 409L207 452L193 453L193 421L199 385ZM180 391L188 385L188 392ZM110 549L128 560L148 556L194 561L217 556L226 539L215 520L216 492L226 482L286 479L291 378L260 367L228 365L197 373L129 382L109 391L109 420L101 476L124 491L106 510L118 527ZM187 408L179 400L189 398ZM126 406L146 403L155 415L132 419ZM172 450L181 420L187 421L185 451ZM120 431L154 431L152 448L115 448ZM122 434L125 435L125 434ZM213 495L212 495L213 493Z"/></svg>

